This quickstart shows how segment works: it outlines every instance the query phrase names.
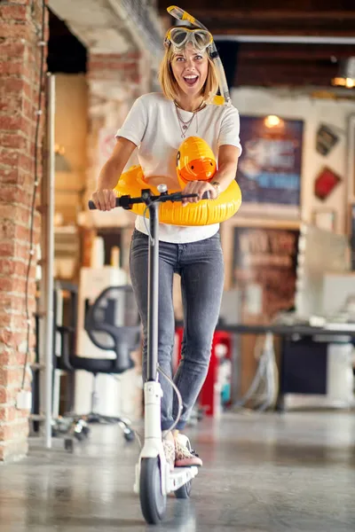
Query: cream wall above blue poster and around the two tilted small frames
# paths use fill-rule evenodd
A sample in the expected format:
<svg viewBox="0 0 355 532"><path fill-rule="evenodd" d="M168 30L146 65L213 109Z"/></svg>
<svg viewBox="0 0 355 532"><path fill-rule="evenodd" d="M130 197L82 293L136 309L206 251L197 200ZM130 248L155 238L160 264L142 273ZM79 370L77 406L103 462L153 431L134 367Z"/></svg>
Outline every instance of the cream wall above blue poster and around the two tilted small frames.
<svg viewBox="0 0 355 532"><path fill-rule="evenodd" d="M335 231L346 228L348 212L348 183L346 176L347 122L355 113L355 104L346 100L316 99L306 94L286 90L267 90L244 87L232 91L233 105L241 114L264 116L277 114L283 119L304 121L304 149L301 182L301 216L305 222L312 221L314 208L335 209ZM316 132L320 123L335 129L339 141L326 156L316 152ZM318 200L313 193L314 180L323 166L332 168L343 179L326 201ZM259 215L263 215L260 207Z"/></svg>

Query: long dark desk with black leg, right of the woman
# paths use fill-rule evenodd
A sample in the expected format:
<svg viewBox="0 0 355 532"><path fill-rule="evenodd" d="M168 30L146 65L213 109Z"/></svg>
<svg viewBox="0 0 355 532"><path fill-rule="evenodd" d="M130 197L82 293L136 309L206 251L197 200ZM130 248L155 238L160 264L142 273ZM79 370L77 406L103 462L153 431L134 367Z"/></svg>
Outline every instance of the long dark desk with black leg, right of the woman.
<svg viewBox="0 0 355 532"><path fill-rule="evenodd" d="M342 325L343 326L343 325ZM277 411L284 411L284 395L285 395L285 364L284 364L284 352L285 344L287 340L291 340L292 337L351 337L351 340L355 338L355 329L326 329L324 327L312 327L311 325L223 325L218 324L217 330L233 332L234 334L266 334L266 332L272 332L275 336L282 338L282 348L280 352L280 372L279 372L279 396L276 403Z"/></svg>

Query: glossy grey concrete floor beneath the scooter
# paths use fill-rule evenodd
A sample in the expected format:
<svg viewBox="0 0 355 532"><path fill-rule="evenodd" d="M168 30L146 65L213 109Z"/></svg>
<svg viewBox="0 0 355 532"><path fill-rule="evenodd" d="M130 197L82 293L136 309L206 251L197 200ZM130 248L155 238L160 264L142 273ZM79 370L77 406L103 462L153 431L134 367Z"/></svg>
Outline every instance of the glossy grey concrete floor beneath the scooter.
<svg viewBox="0 0 355 532"><path fill-rule="evenodd" d="M204 467L158 530L354 532L355 412L226 414L190 430ZM138 532L138 444L95 426L74 454L0 466L1 532Z"/></svg>

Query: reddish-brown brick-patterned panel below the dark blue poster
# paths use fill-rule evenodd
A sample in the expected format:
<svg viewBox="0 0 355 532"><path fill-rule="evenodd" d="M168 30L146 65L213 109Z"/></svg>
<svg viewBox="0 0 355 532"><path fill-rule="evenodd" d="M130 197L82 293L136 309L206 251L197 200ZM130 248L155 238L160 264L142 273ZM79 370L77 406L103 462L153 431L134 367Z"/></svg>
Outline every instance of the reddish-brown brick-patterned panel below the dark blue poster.
<svg viewBox="0 0 355 532"><path fill-rule="evenodd" d="M298 230L234 228L233 286L258 286L266 318L295 306L298 239Z"/></svg>

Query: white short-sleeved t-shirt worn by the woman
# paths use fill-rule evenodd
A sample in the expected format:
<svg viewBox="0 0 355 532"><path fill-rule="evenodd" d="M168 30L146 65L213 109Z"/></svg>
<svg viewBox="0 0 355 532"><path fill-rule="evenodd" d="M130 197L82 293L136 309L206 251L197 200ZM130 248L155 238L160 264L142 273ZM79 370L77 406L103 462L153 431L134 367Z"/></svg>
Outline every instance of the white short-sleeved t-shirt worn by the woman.
<svg viewBox="0 0 355 532"><path fill-rule="evenodd" d="M179 110L184 121L193 113ZM187 137L203 138L216 160L221 145L240 148L239 113L233 106L206 106L196 113ZM124 137L138 146L138 161L147 182L167 184L168 190L179 188L177 181L177 150L183 142L174 102L162 93L152 92L138 98L115 137ZM137 216L136 228L146 232L143 216ZM203 226L159 224L159 239L166 242L187 243L208 239L219 228L219 223Z"/></svg>

